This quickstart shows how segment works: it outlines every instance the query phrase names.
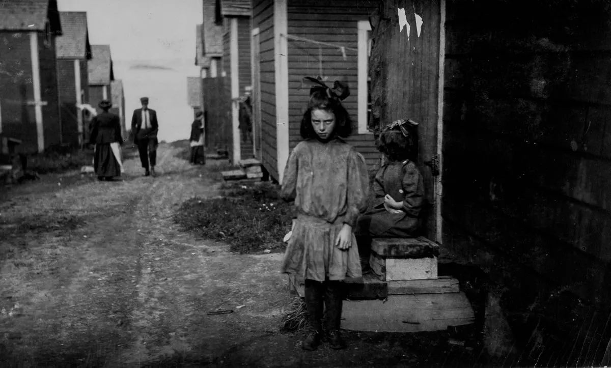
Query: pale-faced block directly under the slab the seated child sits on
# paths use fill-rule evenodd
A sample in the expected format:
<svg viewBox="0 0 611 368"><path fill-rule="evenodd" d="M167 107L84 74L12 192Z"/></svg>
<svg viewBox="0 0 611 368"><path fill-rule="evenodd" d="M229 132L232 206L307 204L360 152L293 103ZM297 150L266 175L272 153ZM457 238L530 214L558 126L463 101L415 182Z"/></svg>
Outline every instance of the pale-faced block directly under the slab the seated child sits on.
<svg viewBox="0 0 611 368"><path fill-rule="evenodd" d="M382 281L437 278L437 257L386 258L371 252L369 265Z"/></svg>

